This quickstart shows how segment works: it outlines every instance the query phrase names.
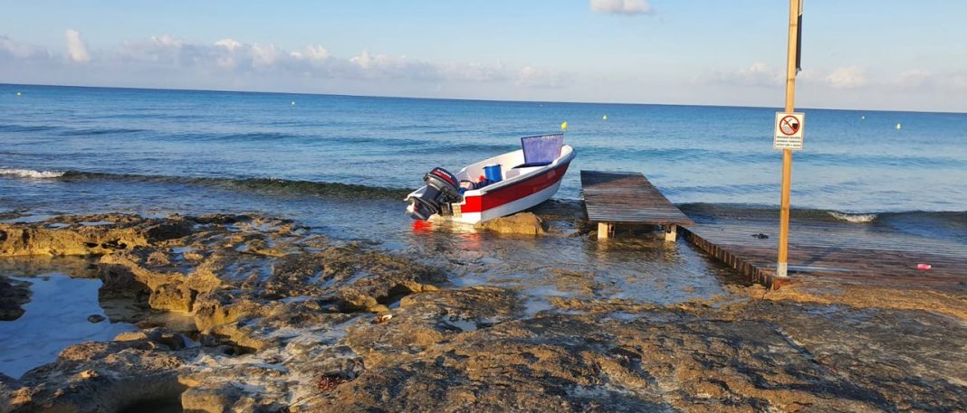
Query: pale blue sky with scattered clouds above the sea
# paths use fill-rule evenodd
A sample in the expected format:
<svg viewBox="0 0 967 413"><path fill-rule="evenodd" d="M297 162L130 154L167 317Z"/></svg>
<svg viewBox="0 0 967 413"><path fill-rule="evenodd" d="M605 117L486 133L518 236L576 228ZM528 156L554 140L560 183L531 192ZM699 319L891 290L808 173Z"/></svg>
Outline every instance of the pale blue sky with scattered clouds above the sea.
<svg viewBox="0 0 967 413"><path fill-rule="evenodd" d="M781 107L779 0L0 0L0 83ZM806 0L797 106L967 112L967 2Z"/></svg>

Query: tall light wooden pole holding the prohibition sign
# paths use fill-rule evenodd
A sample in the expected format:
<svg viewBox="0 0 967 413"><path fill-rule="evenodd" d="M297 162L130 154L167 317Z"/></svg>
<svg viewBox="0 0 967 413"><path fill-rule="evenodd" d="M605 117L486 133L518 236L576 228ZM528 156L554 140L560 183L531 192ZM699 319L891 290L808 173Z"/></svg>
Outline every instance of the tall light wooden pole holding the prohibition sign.
<svg viewBox="0 0 967 413"><path fill-rule="evenodd" d="M796 53L799 46L799 14L803 0L789 0L789 47L786 56L786 113L796 101ZM779 200L779 254L776 277L786 278L789 271L789 188L792 186L792 151L782 150L782 195Z"/></svg>

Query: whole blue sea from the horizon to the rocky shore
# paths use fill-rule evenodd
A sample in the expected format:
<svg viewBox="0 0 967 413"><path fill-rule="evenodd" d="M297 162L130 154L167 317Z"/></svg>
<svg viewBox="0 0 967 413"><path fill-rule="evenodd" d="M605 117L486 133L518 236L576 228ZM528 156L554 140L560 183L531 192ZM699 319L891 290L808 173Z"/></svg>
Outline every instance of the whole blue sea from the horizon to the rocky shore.
<svg viewBox="0 0 967 413"><path fill-rule="evenodd" d="M415 232L403 197L433 167L458 170L567 121L577 157L542 206L550 215L579 222L582 169L641 172L699 221L773 214L776 111L0 85L0 214L260 213L477 268L454 270L456 285L554 295L548 269L567 267L612 286L604 296L674 302L721 292L727 270L688 243L603 247L571 224L574 236L543 239ZM794 220L967 243L967 114L803 111Z"/></svg>

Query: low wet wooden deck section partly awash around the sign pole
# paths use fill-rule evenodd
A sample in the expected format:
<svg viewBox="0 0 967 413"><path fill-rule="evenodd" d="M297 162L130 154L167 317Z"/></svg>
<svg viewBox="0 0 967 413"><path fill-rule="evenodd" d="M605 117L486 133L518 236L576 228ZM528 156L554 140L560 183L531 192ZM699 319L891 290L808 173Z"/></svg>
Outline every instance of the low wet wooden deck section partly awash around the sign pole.
<svg viewBox="0 0 967 413"><path fill-rule="evenodd" d="M781 284L775 278L778 216L763 215L699 223L685 230L684 236L751 281L777 287ZM918 269L921 263L930 269ZM812 220L804 224L794 218L789 231L789 279L967 290L967 245L869 224Z"/></svg>

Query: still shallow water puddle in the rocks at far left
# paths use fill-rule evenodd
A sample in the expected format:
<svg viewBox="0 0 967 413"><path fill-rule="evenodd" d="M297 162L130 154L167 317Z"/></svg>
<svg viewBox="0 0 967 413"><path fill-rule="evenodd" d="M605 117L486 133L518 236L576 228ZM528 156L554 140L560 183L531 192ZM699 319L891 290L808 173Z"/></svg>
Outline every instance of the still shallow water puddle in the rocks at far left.
<svg viewBox="0 0 967 413"><path fill-rule="evenodd" d="M105 318L93 323L87 317L106 317L98 303L97 279L71 278L60 273L36 278L16 278L32 283L31 301L23 316L0 321L0 372L19 377L50 363L65 347L86 341L108 341L125 331L137 330L129 323Z"/></svg>

